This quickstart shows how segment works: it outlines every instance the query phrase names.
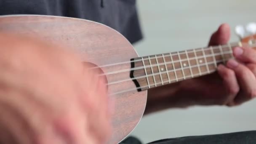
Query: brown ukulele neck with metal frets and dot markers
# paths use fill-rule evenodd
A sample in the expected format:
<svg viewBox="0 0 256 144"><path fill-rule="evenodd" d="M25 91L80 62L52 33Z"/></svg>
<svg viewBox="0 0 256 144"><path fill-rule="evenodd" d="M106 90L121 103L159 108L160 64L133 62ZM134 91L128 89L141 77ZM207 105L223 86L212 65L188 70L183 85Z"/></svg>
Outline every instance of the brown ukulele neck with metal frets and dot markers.
<svg viewBox="0 0 256 144"><path fill-rule="evenodd" d="M139 91L208 75L218 64L233 58L232 48L241 43L195 48L132 59L131 78Z"/></svg>

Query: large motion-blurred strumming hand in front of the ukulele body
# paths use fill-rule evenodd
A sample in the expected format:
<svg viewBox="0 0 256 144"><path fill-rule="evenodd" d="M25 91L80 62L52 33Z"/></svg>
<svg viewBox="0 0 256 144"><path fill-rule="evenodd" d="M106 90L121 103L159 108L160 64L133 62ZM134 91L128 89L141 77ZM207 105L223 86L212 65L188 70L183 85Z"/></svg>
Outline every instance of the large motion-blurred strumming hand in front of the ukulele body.
<svg viewBox="0 0 256 144"><path fill-rule="evenodd" d="M103 80L70 51L0 34L0 143L102 144L110 117Z"/></svg>

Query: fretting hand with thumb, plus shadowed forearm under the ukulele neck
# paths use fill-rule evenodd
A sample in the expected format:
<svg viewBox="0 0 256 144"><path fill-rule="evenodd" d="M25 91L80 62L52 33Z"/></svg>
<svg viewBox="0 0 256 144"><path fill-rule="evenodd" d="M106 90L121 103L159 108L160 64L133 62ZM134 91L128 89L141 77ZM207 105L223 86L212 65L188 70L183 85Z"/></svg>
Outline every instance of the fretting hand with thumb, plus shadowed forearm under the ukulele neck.
<svg viewBox="0 0 256 144"><path fill-rule="evenodd" d="M209 45L227 44L228 24L213 33ZM236 106L256 96L256 51L234 48L237 60L219 65L217 72L170 85L149 89L145 113L194 105ZM237 62L240 61L240 62Z"/></svg>

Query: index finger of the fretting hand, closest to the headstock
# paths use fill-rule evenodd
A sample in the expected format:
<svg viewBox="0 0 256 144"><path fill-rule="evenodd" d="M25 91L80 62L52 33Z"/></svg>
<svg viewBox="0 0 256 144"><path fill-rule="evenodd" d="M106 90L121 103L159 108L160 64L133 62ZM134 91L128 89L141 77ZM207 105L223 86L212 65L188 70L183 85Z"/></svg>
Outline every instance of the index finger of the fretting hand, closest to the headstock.
<svg viewBox="0 0 256 144"><path fill-rule="evenodd" d="M253 48L236 47L233 49L233 55L242 62L256 63L256 51Z"/></svg>

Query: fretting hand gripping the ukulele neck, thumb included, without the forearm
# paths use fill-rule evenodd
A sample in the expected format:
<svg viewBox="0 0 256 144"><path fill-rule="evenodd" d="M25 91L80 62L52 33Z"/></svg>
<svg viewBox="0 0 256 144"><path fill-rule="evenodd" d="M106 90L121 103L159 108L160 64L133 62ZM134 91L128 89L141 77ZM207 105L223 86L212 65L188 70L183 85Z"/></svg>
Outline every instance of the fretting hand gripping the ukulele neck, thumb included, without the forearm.
<svg viewBox="0 0 256 144"><path fill-rule="evenodd" d="M211 36L209 45L226 44L229 37L229 25L222 24ZM253 99L256 96L256 51L233 48L233 55L236 60L220 64L217 73L182 82L183 95L199 105L235 106Z"/></svg>

